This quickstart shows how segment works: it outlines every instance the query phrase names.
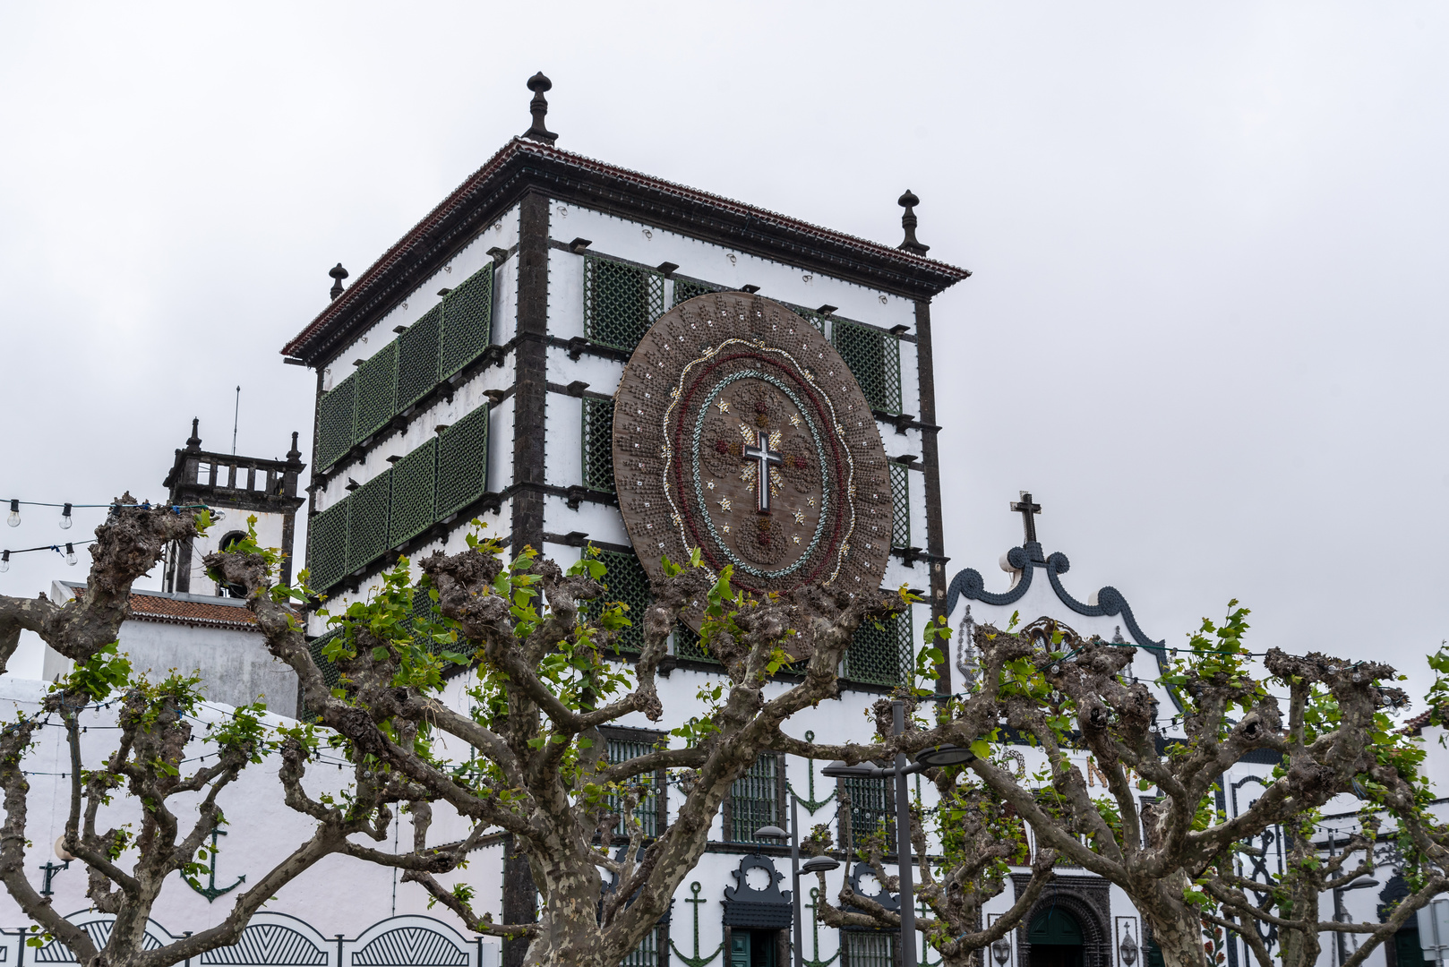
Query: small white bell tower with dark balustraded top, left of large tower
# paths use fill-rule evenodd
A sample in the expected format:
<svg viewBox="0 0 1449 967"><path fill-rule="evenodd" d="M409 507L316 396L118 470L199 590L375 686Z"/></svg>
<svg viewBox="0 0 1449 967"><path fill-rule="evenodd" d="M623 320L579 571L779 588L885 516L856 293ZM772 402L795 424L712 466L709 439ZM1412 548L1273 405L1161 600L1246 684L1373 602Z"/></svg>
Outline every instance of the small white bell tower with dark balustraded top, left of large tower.
<svg viewBox="0 0 1449 967"><path fill-rule="evenodd" d="M165 590L181 594L227 594L206 576L201 558L226 548L246 534L246 518L256 515L256 538L262 547L283 551L281 580L291 583L291 554L297 532L297 477L306 464L297 449L297 433L285 460L261 460L201 449L200 420L191 420L191 436L177 451L164 487L174 505L204 503L220 512L206 536L190 545L172 545L167 552Z"/></svg>

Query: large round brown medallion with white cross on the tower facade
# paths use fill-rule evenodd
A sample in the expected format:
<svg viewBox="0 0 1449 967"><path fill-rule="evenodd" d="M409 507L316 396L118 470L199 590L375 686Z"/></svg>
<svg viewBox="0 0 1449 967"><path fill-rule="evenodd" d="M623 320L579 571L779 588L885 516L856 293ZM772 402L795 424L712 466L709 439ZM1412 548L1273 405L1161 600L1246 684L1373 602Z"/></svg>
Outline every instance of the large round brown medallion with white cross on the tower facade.
<svg viewBox="0 0 1449 967"><path fill-rule="evenodd" d="M875 418L835 346L780 303L713 293L661 316L625 368L613 445L651 576L700 548L756 593L880 587L891 494Z"/></svg>

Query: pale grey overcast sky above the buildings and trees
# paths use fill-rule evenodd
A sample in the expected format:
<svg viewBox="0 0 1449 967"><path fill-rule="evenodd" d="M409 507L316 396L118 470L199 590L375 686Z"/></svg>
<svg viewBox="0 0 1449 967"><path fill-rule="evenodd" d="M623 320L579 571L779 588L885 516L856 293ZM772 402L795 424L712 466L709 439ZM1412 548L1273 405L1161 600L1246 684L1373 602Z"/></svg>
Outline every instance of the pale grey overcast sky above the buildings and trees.
<svg viewBox="0 0 1449 967"><path fill-rule="evenodd" d="M948 570L1003 590L1019 490L1081 599L1182 641L1449 636L1449 7L0 6L0 497L100 503L312 425L278 349L529 123L895 244L936 300ZM84 539L28 507L0 547ZM300 547L298 547L300 549ZM0 593L81 580L17 555ZM38 674L28 649L12 663Z"/></svg>

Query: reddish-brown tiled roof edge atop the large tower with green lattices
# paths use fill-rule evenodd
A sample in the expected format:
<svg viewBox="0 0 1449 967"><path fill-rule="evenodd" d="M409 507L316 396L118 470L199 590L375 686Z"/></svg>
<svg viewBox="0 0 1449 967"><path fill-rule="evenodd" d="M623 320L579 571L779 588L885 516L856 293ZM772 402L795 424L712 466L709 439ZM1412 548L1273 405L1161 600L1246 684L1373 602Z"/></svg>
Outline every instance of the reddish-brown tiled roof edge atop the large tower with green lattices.
<svg viewBox="0 0 1449 967"><path fill-rule="evenodd" d="M312 342L314 336L323 332L332 320L345 316L351 307L361 304L369 294L374 283L377 283L396 265L409 260L419 241L426 239L426 236L435 228L442 225L454 212L467 206L481 187L498 175L509 162L519 159L520 155L533 155L536 159L562 164L580 173L603 175L614 183L627 184L632 188L638 188L645 193L656 193L678 202L701 204L709 209L714 209L723 216L743 219L758 228L775 229L798 239L810 239L813 244L826 245L836 251L849 251L856 257L874 260L877 265L890 264L897 270L919 273L935 280L933 284L938 289L945 289L946 286L971 275L971 273L965 268L958 268L933 258L914 255L898 248L881 245L880 242L871 242L853 235L846 235L845 232L836 232L817 225L810 225L809 222L801 222L768 209L758 209L752 204L732 202L730 199L717 194L710 194L682 184L630 171L629 168L619 168L616 165L604 164L603 161L594 161L585 155L562 151L561 148L554 148L552 145L514 138L462 184L454 188L454 191L443 199L438 207L429 212L423 220L414 225L401 239L387 249L381 258L358 275L352 286L329 303L327 307L323 309L306 329L287 342L283 348L283 354L298 355L306 352L307 344Z"/></svg>

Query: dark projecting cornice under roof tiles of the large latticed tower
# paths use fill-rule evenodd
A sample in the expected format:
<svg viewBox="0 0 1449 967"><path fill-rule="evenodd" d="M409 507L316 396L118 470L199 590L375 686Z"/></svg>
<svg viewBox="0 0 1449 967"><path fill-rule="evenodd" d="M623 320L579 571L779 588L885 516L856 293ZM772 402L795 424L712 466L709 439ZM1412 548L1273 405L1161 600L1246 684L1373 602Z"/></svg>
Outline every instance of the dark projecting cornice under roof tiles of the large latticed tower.
<svg viewBox="0 0 1449 967"><path fill-rule="evenodd" d="M309 365L330 358L530 190L907 299L930 299L971 275L898 248L514 138L293 336L283 354Z"/></svg>

